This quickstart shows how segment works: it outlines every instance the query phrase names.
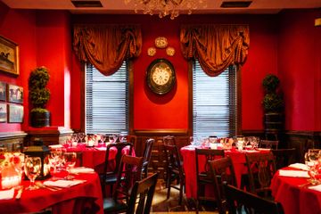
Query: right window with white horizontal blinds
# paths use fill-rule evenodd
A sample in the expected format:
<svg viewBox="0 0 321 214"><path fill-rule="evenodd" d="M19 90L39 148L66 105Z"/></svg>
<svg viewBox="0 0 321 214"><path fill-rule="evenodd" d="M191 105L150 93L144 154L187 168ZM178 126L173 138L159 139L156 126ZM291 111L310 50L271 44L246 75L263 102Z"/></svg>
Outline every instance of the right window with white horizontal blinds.
<svg viewBox="0 0 321 214"><path fill-rule="evenodd" d="M193 62L193 136L236 136L237 72L229 66L208 76Z"/></svg>

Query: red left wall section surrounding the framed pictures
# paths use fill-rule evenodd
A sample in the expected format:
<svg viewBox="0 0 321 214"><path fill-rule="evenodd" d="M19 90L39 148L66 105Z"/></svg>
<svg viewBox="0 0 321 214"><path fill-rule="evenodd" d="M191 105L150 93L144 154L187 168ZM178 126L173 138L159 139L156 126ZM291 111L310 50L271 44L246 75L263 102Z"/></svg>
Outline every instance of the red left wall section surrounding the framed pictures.
<svg viewBox="0 0 321 214"><path fill-rule="evenodd" d="M21 131L28 128L29 102L28 78L37 61L36 15L30 11L10 10L0 2L0 35L11 39L20 48L20 75L18 77L0 71L0 81L23 86L24 122L0 123L0 132ZM3 103L3 102L2 102Z"/></svg>

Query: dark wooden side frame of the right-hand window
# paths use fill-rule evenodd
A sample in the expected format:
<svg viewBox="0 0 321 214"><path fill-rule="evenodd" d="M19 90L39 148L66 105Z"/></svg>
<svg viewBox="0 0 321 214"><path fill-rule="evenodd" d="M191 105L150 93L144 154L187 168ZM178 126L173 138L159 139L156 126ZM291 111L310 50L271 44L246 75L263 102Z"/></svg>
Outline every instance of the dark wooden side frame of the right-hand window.
<svg viewBox="0 0 321 214"><path fill-rule="evenodd" d="M235 66L236 74L236 135L242 135L242 91L241 69ZM188 62L188 135L193 136L193 61Z"/></svg>

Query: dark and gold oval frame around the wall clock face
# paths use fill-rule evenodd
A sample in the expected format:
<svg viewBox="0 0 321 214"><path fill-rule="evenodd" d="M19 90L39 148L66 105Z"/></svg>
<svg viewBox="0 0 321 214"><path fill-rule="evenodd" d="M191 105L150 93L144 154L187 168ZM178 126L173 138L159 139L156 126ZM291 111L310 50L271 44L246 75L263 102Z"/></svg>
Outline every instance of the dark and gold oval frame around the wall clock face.
<svg viewBox="0 0 321 214"><path fill-rule="evenodd" d="M169 82L165 85L158 85L152 79L152 73L156 68L167 69L170 71ZM167 59L156 59L150 63L146 71L146 82L153 93L157 95L165 95L173 88L176 82L174 66Z"/></svg>

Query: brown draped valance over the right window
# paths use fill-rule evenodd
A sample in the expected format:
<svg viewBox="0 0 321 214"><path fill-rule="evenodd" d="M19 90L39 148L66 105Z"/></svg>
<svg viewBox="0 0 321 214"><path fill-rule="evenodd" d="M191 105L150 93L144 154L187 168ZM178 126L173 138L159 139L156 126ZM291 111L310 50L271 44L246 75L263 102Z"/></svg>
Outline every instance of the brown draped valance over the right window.
<svg viewBox="0 0 321 214"><path fill-rule="evenodd" d="M185 59L198 59L209 76L231 65L243 65L250 45L248 25L185 25L180 31Z"/></svg>

